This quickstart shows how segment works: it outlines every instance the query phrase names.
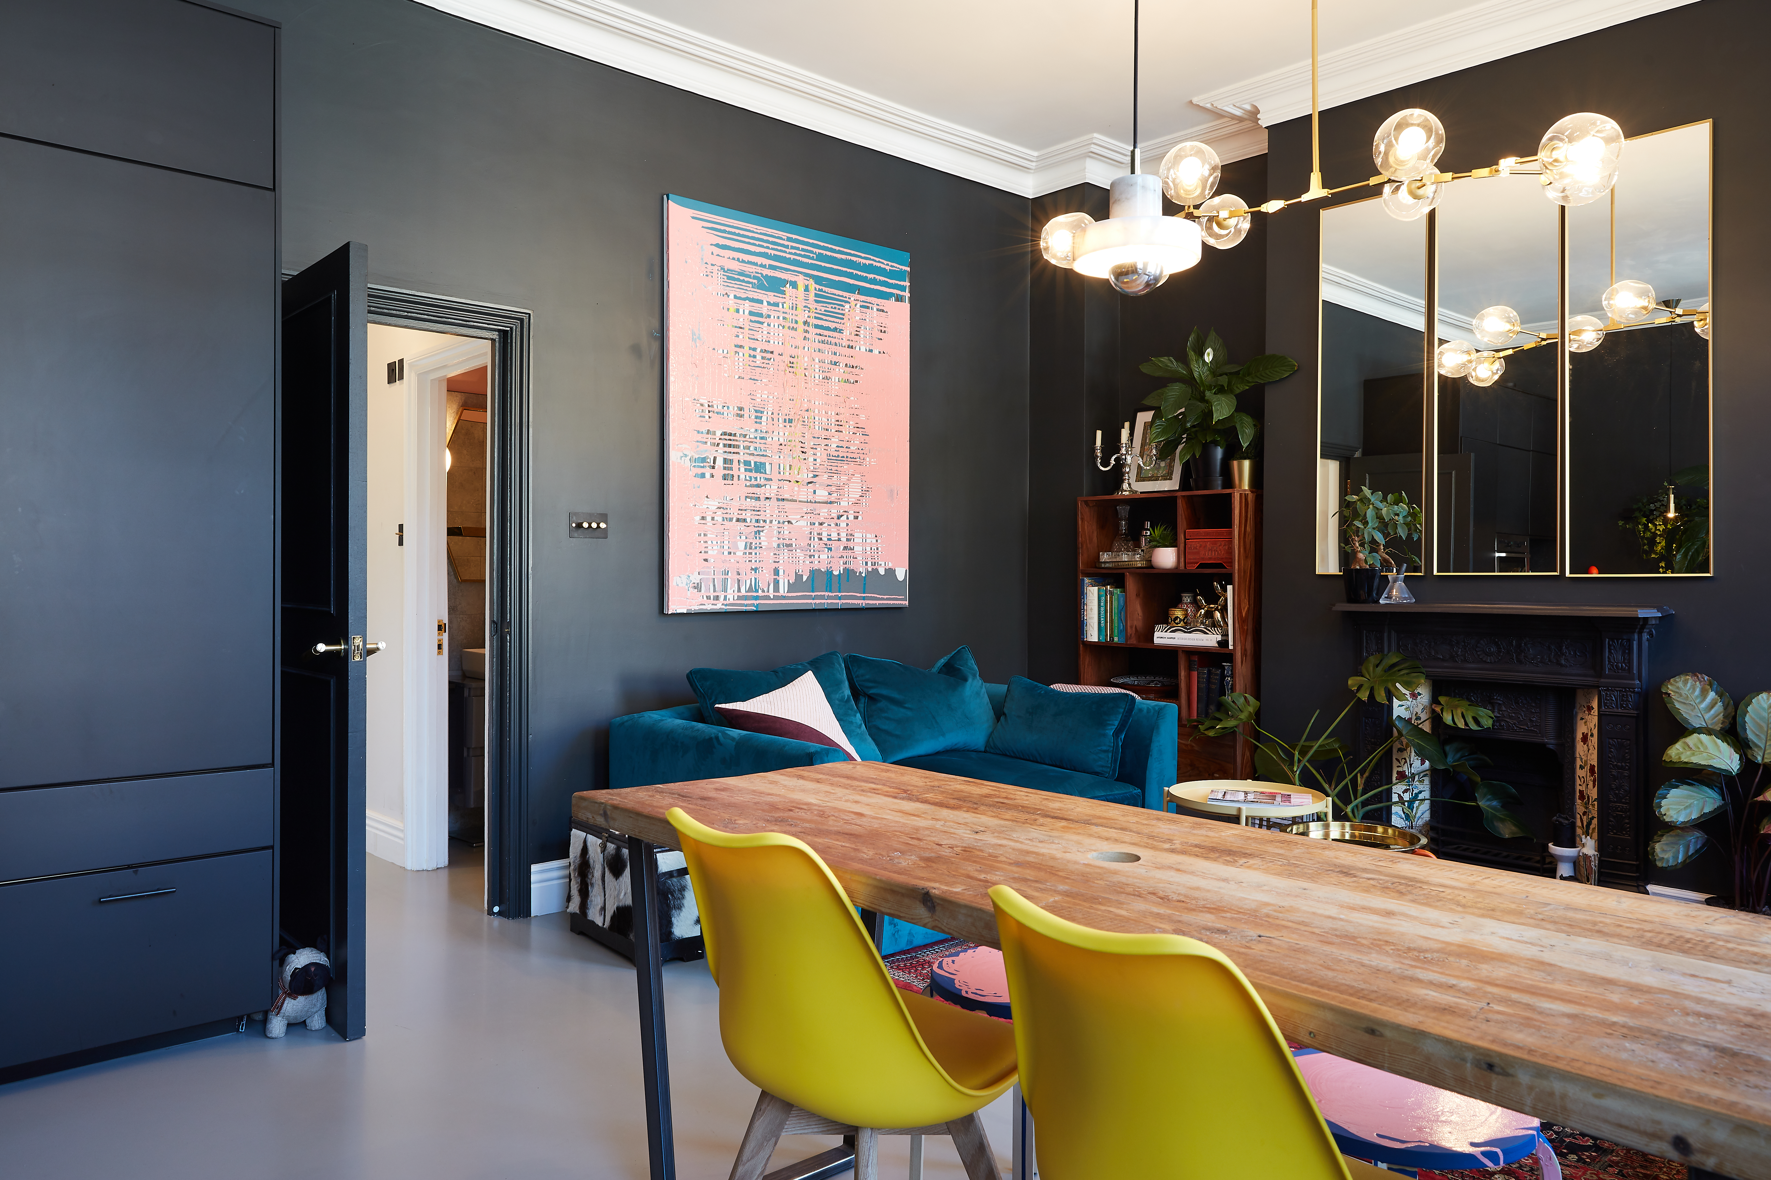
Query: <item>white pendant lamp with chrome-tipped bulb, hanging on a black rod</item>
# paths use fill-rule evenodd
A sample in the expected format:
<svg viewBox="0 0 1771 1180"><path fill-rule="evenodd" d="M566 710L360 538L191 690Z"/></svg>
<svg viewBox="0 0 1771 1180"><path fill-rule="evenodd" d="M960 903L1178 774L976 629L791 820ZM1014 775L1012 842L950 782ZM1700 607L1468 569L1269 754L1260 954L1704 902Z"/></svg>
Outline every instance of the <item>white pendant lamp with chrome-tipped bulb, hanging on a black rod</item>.
<svg viewBox="0 0 1771 1180"><path fill-rule="evenodd" d="M1103 278L1125 295L1153 292L1167 283L1171 274L1195 265L1204 237L1194 219L1162 216L1162 180L1139 172L1142 154L1137 150L1137 34L1139 0L1132 0L1132 172L1112 182L1105 221L1096 221L1086 212L1066 212L1047 221L1040 234L1040 253L1047 262L1089 278ZM1210 165L1199 161L1195 166L1210 166L1210 188L1203 189L1201 198L1211 195L1218 175L1217 154L1208 147L1204 150ZM1195 186L1201 182L1203 179L1195 180Z"/></svg>

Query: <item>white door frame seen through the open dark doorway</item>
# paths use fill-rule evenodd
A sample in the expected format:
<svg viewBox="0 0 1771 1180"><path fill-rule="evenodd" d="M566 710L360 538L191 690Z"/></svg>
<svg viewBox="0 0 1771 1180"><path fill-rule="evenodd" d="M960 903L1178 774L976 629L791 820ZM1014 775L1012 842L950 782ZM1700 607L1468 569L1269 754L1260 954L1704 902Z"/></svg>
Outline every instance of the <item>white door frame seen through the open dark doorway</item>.
<svg viewBox="0 0 1771 1180"><path fill-rule="evenodd" d="M406 867L448 865L448 655L436 621L448 619L448 379L491 366L485 340L406 361Z"/></svg>

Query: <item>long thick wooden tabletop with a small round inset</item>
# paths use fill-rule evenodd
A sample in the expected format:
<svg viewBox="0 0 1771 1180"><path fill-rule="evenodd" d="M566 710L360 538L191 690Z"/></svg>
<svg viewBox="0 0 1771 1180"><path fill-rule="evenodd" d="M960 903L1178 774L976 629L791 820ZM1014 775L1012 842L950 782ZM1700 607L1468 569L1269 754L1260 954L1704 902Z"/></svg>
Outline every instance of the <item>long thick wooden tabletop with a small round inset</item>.
<svg viewBox="0 0 1771 1180"><path fill-rule="evenodd" d="M1203 939L1293 1040L1771 1176L1764 918L884 762L572 796L576 819L677 847L671 807L792 833L855 904L979 943L997 945L992 885L1071 922Z"/></svg>

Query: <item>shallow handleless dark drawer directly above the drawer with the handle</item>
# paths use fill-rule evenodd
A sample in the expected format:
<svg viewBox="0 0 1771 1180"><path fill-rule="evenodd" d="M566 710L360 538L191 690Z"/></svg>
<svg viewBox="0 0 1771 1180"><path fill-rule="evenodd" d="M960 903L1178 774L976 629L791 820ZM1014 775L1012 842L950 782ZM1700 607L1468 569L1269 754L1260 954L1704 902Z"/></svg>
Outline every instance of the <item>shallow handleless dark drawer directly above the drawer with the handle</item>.
<svg viewBox="0 0 1771 1180"><path fill-rule="evenodd" d="M0 883L269 846L269 770L0 791Z"/></svg>

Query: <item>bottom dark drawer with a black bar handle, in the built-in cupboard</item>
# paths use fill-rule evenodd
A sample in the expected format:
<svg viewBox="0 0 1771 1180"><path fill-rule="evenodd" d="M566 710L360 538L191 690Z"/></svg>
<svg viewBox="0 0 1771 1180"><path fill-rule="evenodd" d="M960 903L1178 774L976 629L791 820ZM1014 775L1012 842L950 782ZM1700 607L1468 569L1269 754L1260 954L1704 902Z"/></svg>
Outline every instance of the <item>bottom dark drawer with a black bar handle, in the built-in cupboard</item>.
<svg viewBox="0 0 1771 1180"><path fill-rule="evenodd" d="M0 1067L259 1012L271 854L0 885Z"/></svg>

